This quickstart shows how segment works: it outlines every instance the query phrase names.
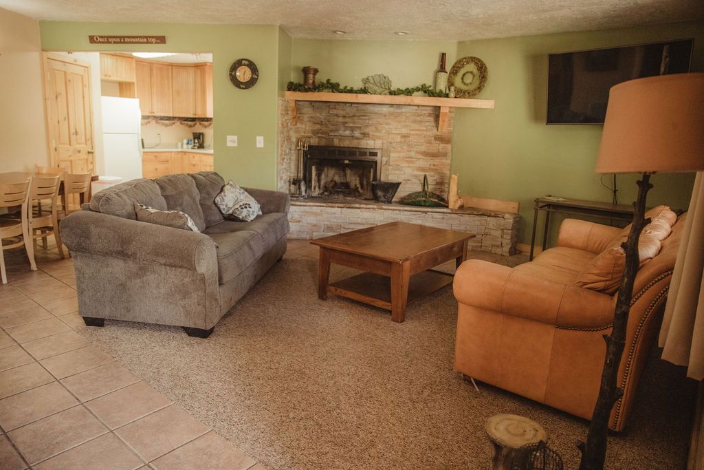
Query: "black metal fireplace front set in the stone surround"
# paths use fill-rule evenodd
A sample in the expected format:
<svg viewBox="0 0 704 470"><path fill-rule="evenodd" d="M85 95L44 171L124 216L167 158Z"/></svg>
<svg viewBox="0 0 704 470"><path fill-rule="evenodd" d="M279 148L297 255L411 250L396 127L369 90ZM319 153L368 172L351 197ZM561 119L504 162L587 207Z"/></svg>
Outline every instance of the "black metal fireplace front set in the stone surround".
<svg viewBox="0 0 704 470"><path fill-rule="evenodd" d="M379 149L311 145L303 156L307 195L373 199L372 181L379 180L381 155Z"/></svg>

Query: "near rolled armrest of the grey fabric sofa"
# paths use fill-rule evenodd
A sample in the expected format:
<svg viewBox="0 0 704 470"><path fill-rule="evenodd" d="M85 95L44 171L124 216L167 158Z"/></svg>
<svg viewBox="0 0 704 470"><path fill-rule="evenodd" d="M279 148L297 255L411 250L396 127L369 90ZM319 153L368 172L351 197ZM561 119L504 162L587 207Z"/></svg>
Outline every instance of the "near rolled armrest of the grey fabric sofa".
<svg viewBox="0 0 704 470"><path fill-rule="evenodd" d="M203 233L94 211L77 211L66 216L60 230L61 239L71 252L132 259L198 273L218 269L215 242Z"/></svg>

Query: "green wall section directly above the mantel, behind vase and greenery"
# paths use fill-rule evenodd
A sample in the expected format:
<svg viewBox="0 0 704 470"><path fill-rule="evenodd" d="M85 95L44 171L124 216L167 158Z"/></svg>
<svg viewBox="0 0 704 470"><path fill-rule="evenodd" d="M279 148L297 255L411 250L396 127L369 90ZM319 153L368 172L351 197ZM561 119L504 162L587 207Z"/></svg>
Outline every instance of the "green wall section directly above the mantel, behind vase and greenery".
<svg viewBox="0 0 704 470"><path fill-rule="evenodd" d="M301 68L317 67L317 82L329 78L340 85L362 87L362 79L382 73L396 88L433 85L440 53L449 67L457 57L454 41L371 41L353 39L294 39L291 80L303 82Z"/></svg>

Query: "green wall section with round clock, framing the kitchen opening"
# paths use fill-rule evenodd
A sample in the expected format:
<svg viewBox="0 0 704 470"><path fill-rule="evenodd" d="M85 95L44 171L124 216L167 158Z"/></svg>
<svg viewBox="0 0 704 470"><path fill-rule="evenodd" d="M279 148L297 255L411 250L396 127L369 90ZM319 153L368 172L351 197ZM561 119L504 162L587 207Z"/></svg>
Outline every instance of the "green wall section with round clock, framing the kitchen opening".
<svg viewBox="0 0 704 470"><path fill-rule="evenodd" d="M42 21L40 30L44 50L212 52L215 170L241 185L276 187L279 51L290 55L287 40L279 41L278 26ZM96 34L164 35L166 44L89 44L89 35ZM237 89L228 78L232 62L243 57L259 69L257 84L248 90ZM225 146L228 134L239 137L239 147ZM261 149L256 148L257 135L264 136Z"/></svg>

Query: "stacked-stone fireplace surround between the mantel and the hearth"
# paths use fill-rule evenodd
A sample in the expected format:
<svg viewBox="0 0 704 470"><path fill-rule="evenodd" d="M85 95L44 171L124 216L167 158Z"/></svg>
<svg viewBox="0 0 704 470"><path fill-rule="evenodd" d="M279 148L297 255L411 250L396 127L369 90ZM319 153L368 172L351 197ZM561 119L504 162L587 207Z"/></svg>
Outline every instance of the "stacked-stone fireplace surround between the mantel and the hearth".
<svg viewBox="0 0 704 470"><path fill-rule="evenodd" d="M450 177L453 111L448 128L438 132L439 108L389 104L297 101L297 124L289 100L279 99L280 191L289 190L296 173L296 140L310 145L382 149L381 176L401 182L396 198L420 191L423 175L430 190L446 196Z"/></svg>

